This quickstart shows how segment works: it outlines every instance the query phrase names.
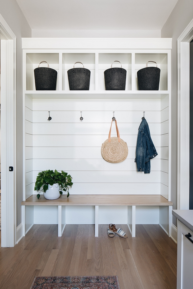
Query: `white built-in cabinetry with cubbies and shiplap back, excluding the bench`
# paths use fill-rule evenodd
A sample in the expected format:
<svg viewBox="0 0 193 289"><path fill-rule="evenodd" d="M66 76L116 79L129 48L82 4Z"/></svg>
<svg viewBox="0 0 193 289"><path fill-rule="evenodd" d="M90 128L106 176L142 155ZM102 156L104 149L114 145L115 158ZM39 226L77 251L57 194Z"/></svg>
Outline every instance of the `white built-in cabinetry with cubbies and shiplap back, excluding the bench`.
<svg viewBox="0 0 193 289"><path fill-rule="evenodd" d="M37 173L64 170L73 177L70 194L161 194L170 201L171 39L23 38L24 196L34 191ZM47 61L58 72L56 91L36 91L34 69ZM124 91L106 91L104 70L119 60L127 70ZM158 91L139 91L137 71L153 60L161 69ZM91 71L89 91L70 91L67 70L80 61ZM116 63L115 63L116 65ZM50 111L51 121L48 121ZM82 111L83 121L80 121ZM107 163L101 144L115 111L128 157ZM141 118L149 124L158 156L151 173L137 172L135 149ZM115 135L113 128L112 135ZM25 231L57 224L57 207L26 206ZM127 223L127 208L99 208L99 223ZM136 207L136 224L161 224L169 232L168 207ZM94 207L66 208L67 224L94 223Z"/></svg>

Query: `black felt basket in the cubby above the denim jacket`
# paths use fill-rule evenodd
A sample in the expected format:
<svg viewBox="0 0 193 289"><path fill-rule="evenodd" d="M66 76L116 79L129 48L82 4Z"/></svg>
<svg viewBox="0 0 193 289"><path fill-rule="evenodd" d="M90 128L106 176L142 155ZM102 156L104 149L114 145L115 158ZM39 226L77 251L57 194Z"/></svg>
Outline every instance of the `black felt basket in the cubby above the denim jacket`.
<svg viewBox="0 0 193 289"><path fill-rule="evenodd" d="M154 62L155 61L148 61ZM156 67L142 68L137 71L137 81L139 90L159 90L160 69ZM157 65L157 63L156 63Z"/></svg>

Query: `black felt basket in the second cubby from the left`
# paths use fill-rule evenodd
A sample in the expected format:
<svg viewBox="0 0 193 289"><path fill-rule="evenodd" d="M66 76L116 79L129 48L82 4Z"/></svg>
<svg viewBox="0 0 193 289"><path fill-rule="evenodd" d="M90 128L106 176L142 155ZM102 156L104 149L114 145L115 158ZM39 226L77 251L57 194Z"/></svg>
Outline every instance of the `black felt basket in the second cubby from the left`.
<svg viewBox="0 0 193 289"><path fill-rule="evenodd" d="M81 63L82 62L75 62ZM74 64L74 65L75 65ZM82 64L83 65L83 64ZM90 70L82 67L73 67L68 70L68 83L70 90L89 90L90 86Z"/></svg>

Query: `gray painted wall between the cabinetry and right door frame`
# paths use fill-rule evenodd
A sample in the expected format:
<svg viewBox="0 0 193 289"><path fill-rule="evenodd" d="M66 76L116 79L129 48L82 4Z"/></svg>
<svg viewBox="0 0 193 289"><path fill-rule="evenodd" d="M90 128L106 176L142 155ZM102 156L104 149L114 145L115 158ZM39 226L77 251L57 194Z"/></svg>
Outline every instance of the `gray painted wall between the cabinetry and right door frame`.
<svg viewBox="0 0 193 289"><path fill-rule="evenodd" d="M178 58L177 39L193 18L193 1L179 0L174 7L168 20L161 29L161 37L172 37L172 81L171 81L171 124L172 124L172 160L171 160L171 201L173 209L177 209L177 117L178 117ZM173 217L173 224L177 226L176 218Z"/></svg>

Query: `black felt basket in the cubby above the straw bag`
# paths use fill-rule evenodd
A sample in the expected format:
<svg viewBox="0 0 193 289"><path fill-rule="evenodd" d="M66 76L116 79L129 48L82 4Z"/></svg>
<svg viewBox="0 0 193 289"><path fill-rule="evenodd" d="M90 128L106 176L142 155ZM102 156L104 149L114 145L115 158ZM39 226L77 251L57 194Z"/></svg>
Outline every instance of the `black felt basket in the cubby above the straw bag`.
<svg viewBox="0 0 193 289"><path fill-rule="evenodd" d="M115 60L113 62L119 62ZM125 90L126 84L126 69L121 67L112 67L104 71L105 89L106 90Z"/></svg>

